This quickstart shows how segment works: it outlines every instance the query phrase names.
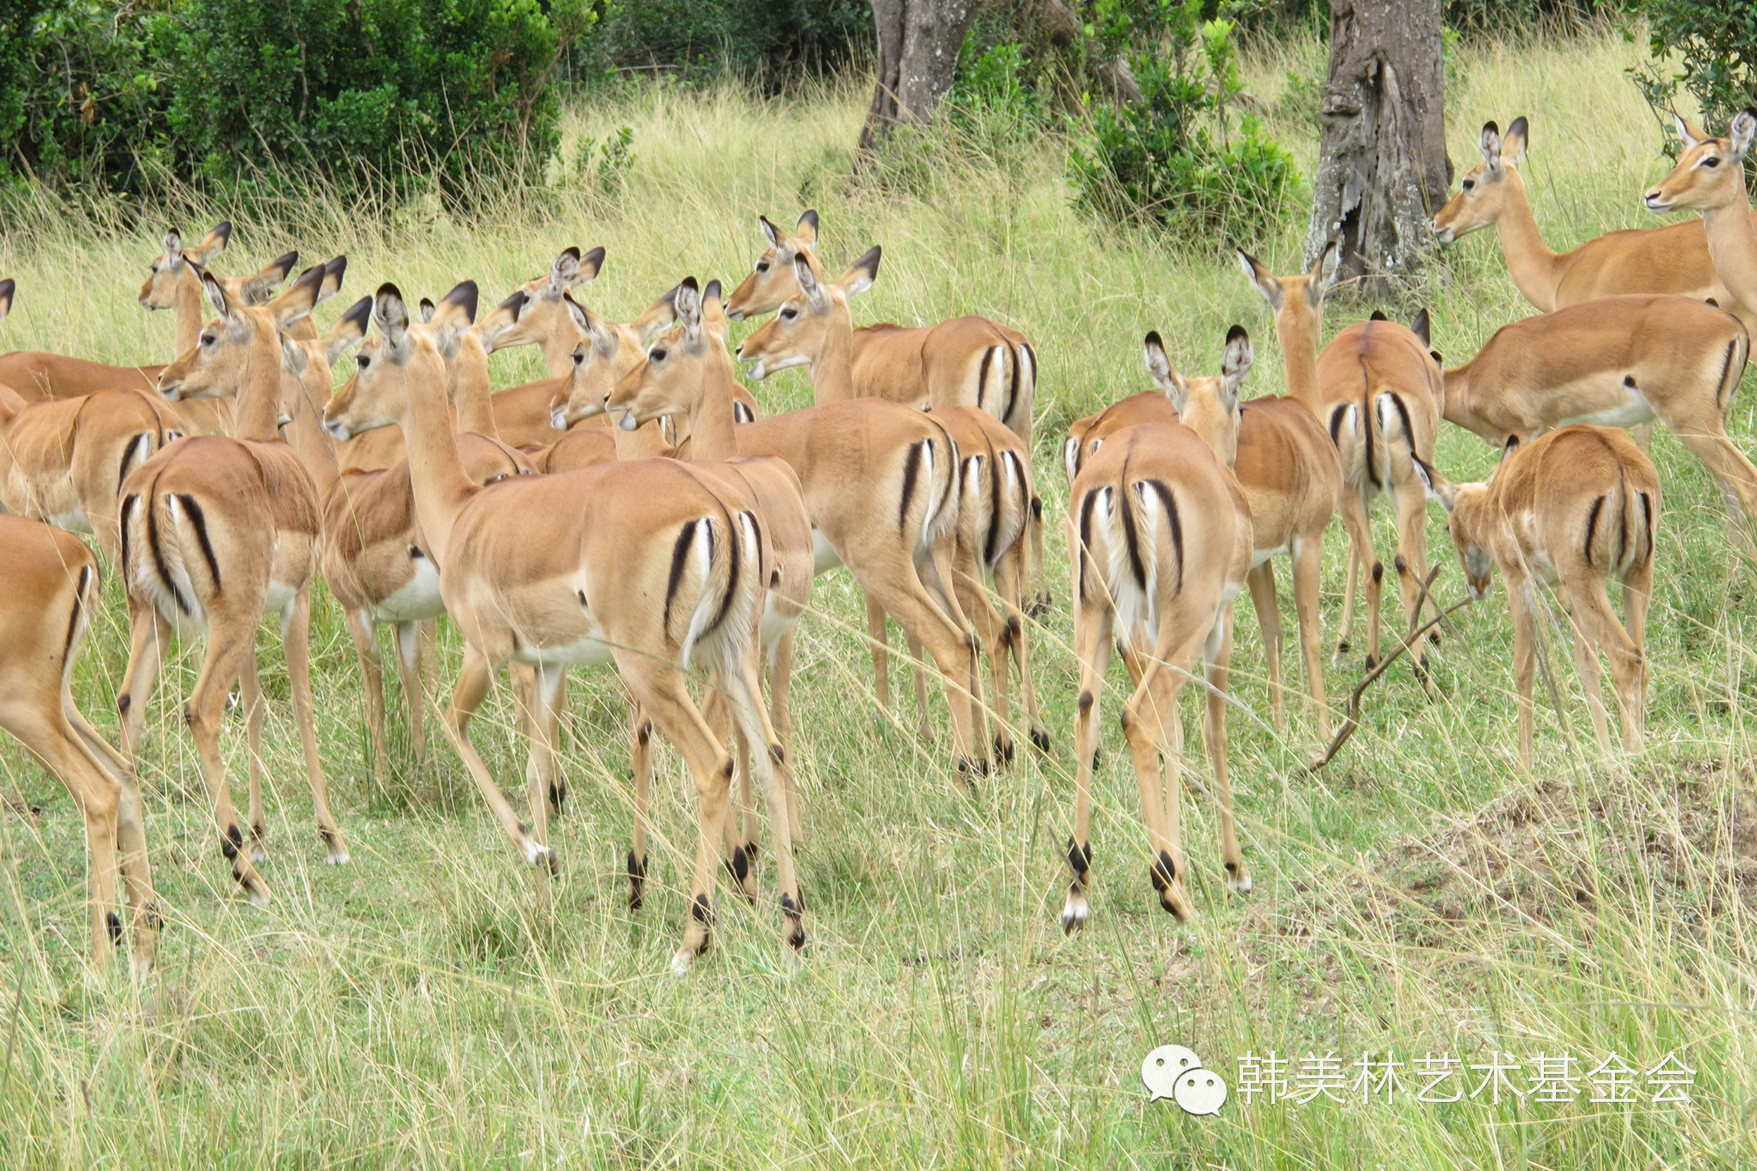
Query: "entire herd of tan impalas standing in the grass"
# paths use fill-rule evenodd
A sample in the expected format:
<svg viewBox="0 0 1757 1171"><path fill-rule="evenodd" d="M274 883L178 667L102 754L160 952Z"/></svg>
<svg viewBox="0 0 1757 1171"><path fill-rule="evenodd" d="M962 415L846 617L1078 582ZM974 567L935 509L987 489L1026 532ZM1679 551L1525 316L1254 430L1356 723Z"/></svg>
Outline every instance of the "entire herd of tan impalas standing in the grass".
<svg viewBox="0 0 1757 1171"><path fill-rule="evenodd" d="M1161 906L1188 916L1179 693L1200 663L1221 860L1230 888L1246 891L1226 782L1233 600L1249 589L1272 714L1284 728L1272 566L1290 557L1307 705L1328 737L1325 531L1341 512L1351 549L1337 652L1349 647L1363 584L1370 668L1381 654L1385 563L1369 513L1385 494L1397 508L1392 570L1407 629L1421 621L1430 498L1450 513L1471 594L1488 589L1497 566L1506 578L1522 765L1532 756L1532 591L1541 584L1557 586L1573 615L1601 751L1611 749L1601 652L1623 747L1639 751L1660 512L1646 424L1664 420L1708 466L1734 517L1757 515L1757 468L1725 433L1757 325L1757 227L1743 185L1757 111L1741 113L1725 137L1681 120L1678 132L1683 153L1646 206L1699 209L1701 220L1611 232L1558 255L1539 237L1520 179L1527 121L1506 134L1495 123L1483 128L1483 162L1434 229L1450 243L1493 223L1513 280L1541 313L1500 329L1464 366L1444 367L1428 348L1425 313L1409 327L1374 315L1320 346L1335 244L1290 276L1239 253L1274 313L1286 396L1242 399L1253 359L1242 327L1226 336L1221 373L1202 378L1179 373L1160 336L1147 334L1158 389L1070 427L1065 531L1081 679L1065 928L1088 918L1091 775L1110 647L1135 682L1121 723L1140 784L1149 876ZM696 784L691 916L676 971L708 946L717 862L756 898L752 777L768 811L784 930L794 948L805 941L789 673L819 573L845 566L866 594L880 703L889 705L887 622L903 628L915 654L922 705L922 663L938 670L959 775L1009 763L1016 728L1049 749L1026 621L1049 601L1031 475L1035 350L979 316L857 329L849 301L877 280L880 250L831 280L817 255L815 213L791 232L768 220L761 227L768 248L729 297L719 281L685 278L631 322L606 322L582 302L604 253L569 248L487 313L478 313L473 281L415 306L381 285L320 332L311 309L341 288L346 260L288 283L290 253L223 278L213 271L230 234L221 223L195 246L169 234L141 290L142 306L176 315L169 366L0 357L0 499L14 513L0 517L9 584L0 594L0 726L67 784L84 814L93 964L125 937L121 898L132 907L134 958L153 962L160 914L137 758L162 659L177 636L204 644L183 719L220 849L249 900L269 898L257 870L265 819L255 642L264 615L279 622L318 833L330 862L348 860L311 698L318 577L358 651L376 768L388 756L376 628L395 628L422 754L422 659L432 654L436 619L450 615L464 661L445 737L513 846L545 872L553 867L548 819L566 795L566 672L615 665L631 700L631 906L647 879L655 728ZM0 316L12 294L12 281L0 281ZM759 315L773 316L729 348L729 324ZM550 376L490 394L488 355L517 345L539 346ZM355 373L332 390L332 367L353 346ZM805 366L815 406L759 418L736 376L740 362L757 380ZM1451 484L1435 469L1441 420L1502 448L1486 482ZM1641 443L1622 427L1638 427ZM128 598L119 751L86 723L69 687L100 582L97 557L72 531L93 535ZM1622 621L1609 578L1622 582ZM1430 686L1425 661L1418 651L1416 675ZM529 742L529 823L469 735L503 665ZM696 693L692 668L708 675ZM1023 721L1009 705L1014 673ZM244 818L220 749L234 684L249 738Z"/></svg>

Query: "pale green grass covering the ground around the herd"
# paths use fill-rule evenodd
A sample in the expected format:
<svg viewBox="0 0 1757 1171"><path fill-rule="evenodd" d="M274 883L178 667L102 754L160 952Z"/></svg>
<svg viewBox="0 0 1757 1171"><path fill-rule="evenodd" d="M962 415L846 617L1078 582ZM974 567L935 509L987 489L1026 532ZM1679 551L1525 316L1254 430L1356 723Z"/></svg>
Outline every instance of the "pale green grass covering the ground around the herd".
<svg viewBox="0 0 1757 1171"><path fill-rule="evenodd" d="M1567 246L1645 225L1638 193L1664 171L1660 130L1622 70L1620 39L1469 44L1448 81L1451 156L1469 167L1488 118L1532 120L1525 164L1537 220ZM1314 42L1258 49L1249 88L1274 100L1290 69L1321 69ZM350 294L381 280L437 294L474 278L497 299L569 243L610 248L585 295L633 315L685 273L741 274L756 215L815 206L831 265L886 246L857 320L929 322L977 311L1026 329L1044 357L1038 485L1051 519L1066 485L1066 420L1149 383L1149 327L1172 357L1211 371L1232 322L1258 339L1247 394L1283 387L1267 308L1212 248L1103 230L1070 211L1052 144L980 139L945 149L882 197L840 176L866 91L859 84L757 102L731 90L657 90L582 105L569 134L634 127L638 162L618 200L555 195L467 229L415 206L357 222L343 202L290 211L302 227L239 223L223 271L297 246L346 251ZM1309 174L1316 132L1298 102L1272 128ZM998 141L998 139L996 139ZM979 142L979 144L980 144ZM223 209L179 211L197 218ZM19 281L5 345L107 360L163 360L169 315L134 290L160 225L139 230L46 216L9 227L0 273ZM1258 241L1297 264L1304 220ZM1423 290L1434 345L1465 357L1530 313L1493 241L1446 253ZM1330 306L1330 332L1370 304ZM1399 311L1407 306L1399 308ZM747 329L747 327L741 327ZM344 362L346 366L346 362ZM494 359L497 385L539 376L532 352ZM1750 378L1732 431L1757 434ZM757 387L768 410L808 403L803 373ZM1483 475L1493 454L1446 429L1439 464ZM1752 647L1757 573L1725 582L1725 515L1706 473L1664 431L1666 485L1648 633L1648 756L1590 761L1565 619L1550 624L1539 686L1539 770L1513 770L1511 631L1504 600L1462 610L1423 700L1399 666L1367 700L1365 726L1328 770L1298 716L1267 723L1263 652L1240 607L1232 775L1256 890L1225 891L1214 802L1200 756L1186 788L1186 851L1200 918L1177 927L1147 884L1144 832L1112 689L1096 782L1095 918L1056 923L1066 879L1074 661L1068 577L1049 538L1054 612L1035 631L1037 682L1054 737L1047 760L965 789L952 782L942 702L919 737L871 698L861 610L845 573L817 584L794 691L810 944L794 964L771 906L722 890L713 951L687 979L666 971L685 906L692 840L680 761L655 786L655 890L631 916L624 716L615 680L573 686L569 809L555 830L562 877L538 911L534 876L506 849L452 753L374 784L355 659L327 598L318 607L320 738L353 865L330 869L309 802L276 651L271 710L267 909L246 906L214 847L193 747L174 717L193 656L169 670L146 749L148 823L169 909L162 967L93 985L81 969L79 819L16 744L0 749L0 1162L54 1166L1226 1166L1226 1167L1734 1167L1757 1164L1757 804L1752 798ZM1381 549L1390 524L1381 512ZM1448 559L1437 596L1460 575ZM1388 556L1388 554L1386 554ZM1341 608L1342 540L1327 557L1327 645ZM1286 594L1283 571L1283 593ZM114 731L125 659L121 591L86 644L77 695ZM1390 591L1388 591L1390 596ZM1293 631L1284 598L1284 622ZM267 642L267 640L265 640ZM1290 679L1298 686L1290 638ZM455 668L446 642L441 675ZM1116 668L1114 668L1116 670ZM1328 666L1332 696L1360 670ZM1116 675L1121 679L1121 675ZM903 686L903 677L894 680ZM1546 689L1562 693L1562 712ZM1195 700L1186 723L1195 733ZM235 724L235 721L234 721ZM476 738L511 789L522 751L504 689ZM227 738L242 777L242 730ZM40 809L40 816L33 814ZM768 877L766 869L761 872ZM1202 1053L1228 1080L1249 1051L1335 1053L1344 1080L1367 1053L1428 1051L1527 1066L1608 1051L1646 1071L1676 1053L1694 1102L1571 1106L1502 1094L1457 1104L1244 1104L1218 1118L1147 1102L1142 1055ZM1290 1064L1290 1076L1298 1062ZM1413 1083L1413 1069L1404 1071ZM1529 1074L1529 1071L1527 1071ZM1525 1076L1520 1074L1520 1085ZM1469 1074L1471 1085L1483 1078ZM1290 1087L1297 1094L1298 1087ZM1636 1085L1646 1099L1652 1090ZM1348 1097L1348 1094L1344 1094Z"/></svg>

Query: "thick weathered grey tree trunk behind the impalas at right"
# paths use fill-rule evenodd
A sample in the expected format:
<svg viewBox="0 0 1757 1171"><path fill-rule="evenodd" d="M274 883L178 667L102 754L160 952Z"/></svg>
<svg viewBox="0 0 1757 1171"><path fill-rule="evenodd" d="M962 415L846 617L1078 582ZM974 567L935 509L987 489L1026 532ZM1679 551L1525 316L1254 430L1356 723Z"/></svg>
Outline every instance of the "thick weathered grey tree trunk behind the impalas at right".
<svg viewBox="0 0 1757 1171"><path fill-rule="evenodd" d="M1451 185L1442 76L1441 0L1330 2L1307 262L1341 237L1342 276L1376 290L1421 267Z"/></svg>

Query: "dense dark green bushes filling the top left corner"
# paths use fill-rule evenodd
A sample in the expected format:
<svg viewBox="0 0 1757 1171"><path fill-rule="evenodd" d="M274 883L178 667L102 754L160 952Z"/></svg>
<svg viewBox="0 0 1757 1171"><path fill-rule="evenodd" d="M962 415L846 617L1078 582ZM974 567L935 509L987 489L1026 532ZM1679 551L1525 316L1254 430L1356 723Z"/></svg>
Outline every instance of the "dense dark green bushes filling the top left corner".
<svg viewBox="0 0 1757 1171"><path fill-rule="evenodd" d="M589 0L5 0L0 179L394 190L534 169Z"/></svg>

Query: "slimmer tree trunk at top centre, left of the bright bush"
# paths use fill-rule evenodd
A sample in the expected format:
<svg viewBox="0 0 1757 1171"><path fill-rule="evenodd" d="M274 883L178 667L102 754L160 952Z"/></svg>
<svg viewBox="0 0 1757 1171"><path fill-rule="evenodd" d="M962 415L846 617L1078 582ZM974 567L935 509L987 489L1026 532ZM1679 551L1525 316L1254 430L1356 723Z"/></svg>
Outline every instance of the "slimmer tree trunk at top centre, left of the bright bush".
<svg viewBox="0 0 1757 1171"><path fill-rule="evenodd" d="M861 155L898 123L933 120L952 88L958 51L973 18L972 0L873 0L878 81L861 128Z"/></svg>

